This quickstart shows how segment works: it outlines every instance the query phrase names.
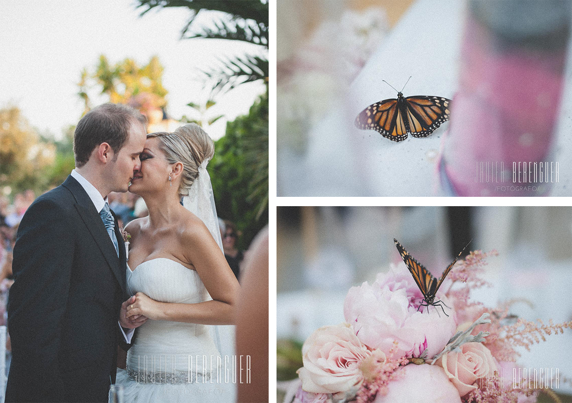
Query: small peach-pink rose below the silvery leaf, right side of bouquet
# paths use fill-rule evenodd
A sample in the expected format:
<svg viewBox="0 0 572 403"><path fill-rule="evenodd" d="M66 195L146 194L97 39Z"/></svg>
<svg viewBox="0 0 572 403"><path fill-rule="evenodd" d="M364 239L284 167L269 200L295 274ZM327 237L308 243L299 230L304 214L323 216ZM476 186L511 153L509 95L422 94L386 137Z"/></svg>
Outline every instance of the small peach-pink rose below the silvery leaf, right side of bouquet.
<svg viewBox="0 0 572 403"><path fill-rule="evenodd" d="M459 390L460 396L465 396L477 386L479 379L491 377L498 371L491 352L482 343L465 343L460 346L461 352L448 352L437 360L453 385Z"/></svg>

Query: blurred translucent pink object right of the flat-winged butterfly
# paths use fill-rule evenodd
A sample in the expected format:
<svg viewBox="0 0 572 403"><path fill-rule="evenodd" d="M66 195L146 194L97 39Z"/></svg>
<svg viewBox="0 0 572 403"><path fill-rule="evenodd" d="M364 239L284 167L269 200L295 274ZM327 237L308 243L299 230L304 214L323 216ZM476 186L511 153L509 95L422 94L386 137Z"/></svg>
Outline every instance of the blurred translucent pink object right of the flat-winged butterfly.
<svg viewBox="0 0 572 403"><path fill-rule="evenodd" d="M513 183L513 162L550 158L563 90L565 47L507 45L469 14L461 55L450 133L443 139L443 168L452 190L462 196L540 195L538 191L501 191L496 185L534 185L533 181ZM477 167L487 162L489 180L475 178ZM505 175L498 183L501 172L496 170L501 162ZM544 193L547 190L549 186Z"/></svg>

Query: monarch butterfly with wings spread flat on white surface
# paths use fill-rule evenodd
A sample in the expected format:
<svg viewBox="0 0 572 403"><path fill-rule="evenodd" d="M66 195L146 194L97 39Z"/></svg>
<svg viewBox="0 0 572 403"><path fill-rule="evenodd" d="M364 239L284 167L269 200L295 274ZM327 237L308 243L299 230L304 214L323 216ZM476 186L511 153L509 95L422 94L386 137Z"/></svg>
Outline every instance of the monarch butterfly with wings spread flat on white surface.
<svg viewBox="0 0 572 403"><path fill-rule="evenodd" d="M395 90L390 83L382 81ZM407 133L413 137L427 137L441 123L449 120L451 99L428 95L405 98L403 89L398 91L397 99L384 99L364 109L356 117L356 127L379 131L392 141L403 141Z"/></svg>

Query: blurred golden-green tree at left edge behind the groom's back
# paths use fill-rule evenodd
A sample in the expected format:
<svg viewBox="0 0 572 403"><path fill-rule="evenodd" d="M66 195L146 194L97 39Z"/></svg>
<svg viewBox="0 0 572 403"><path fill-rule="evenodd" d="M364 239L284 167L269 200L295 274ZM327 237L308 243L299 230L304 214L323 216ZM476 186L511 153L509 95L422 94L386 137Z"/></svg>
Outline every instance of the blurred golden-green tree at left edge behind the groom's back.
<svg viewBox="0 0 572 403"><path fill-rule="evenodd" d="M0 186L43 191L54 158L55 147L42 141L18 107L0 109Z"/></svg>

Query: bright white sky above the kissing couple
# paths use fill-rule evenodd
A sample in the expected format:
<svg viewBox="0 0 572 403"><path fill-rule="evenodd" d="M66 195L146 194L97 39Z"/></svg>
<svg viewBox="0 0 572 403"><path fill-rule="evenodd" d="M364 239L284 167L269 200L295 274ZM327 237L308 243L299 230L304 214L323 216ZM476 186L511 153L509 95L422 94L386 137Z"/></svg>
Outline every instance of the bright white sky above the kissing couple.
<svg viewBox="0 0 572 403"><path fill-rule="evenodd" d="M83 111L77 83L84 67L93 71L101 54L110 63L126 57L146 65L157 55L165 70L163 86L169 91L167 111L175 119L192 115L189 102L204 103L200 70L218 58L243 55L257 49L248 43L216 39L179 39L190 11L182 7L155 9L139 17L133 0L63 2L19 0L4 2L0 10L0 108L18 106L40 131L59 137L76 124ZM209 23L217 13L196 22ZM248 113L264 92L263 83L248 83L219 95L209 115L233 120ZM108 101L90 94L92 105ZM213 138L224 135L227 119L210 129Z"/></svg>

